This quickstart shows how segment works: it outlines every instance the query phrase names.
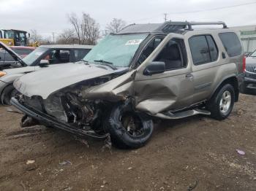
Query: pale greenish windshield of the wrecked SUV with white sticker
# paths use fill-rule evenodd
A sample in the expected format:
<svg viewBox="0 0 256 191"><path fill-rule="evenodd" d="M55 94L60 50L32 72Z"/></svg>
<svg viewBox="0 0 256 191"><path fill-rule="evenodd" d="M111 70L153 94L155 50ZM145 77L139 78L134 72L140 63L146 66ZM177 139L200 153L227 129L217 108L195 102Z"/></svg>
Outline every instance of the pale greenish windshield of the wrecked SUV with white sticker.
<svg viewBox="0 0 256 191"><path fill-rule="evenodd" d="M140 43L148 34L110 34L102 39L84 58L91 63L108 62L116 67L127 67Z"/></svg>

